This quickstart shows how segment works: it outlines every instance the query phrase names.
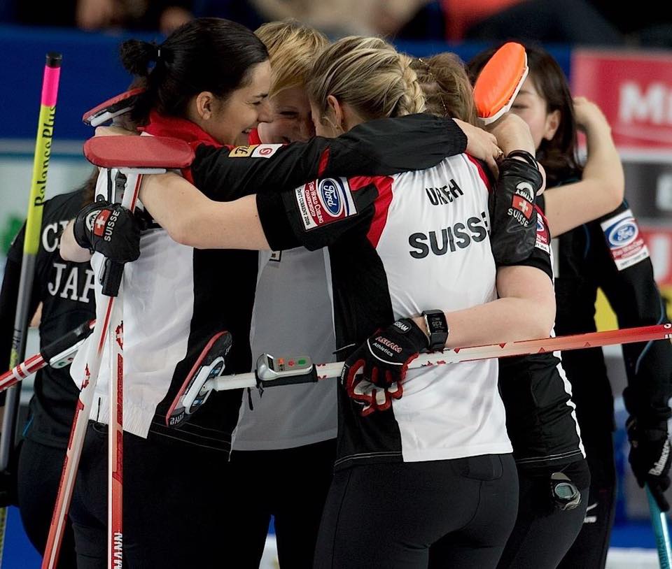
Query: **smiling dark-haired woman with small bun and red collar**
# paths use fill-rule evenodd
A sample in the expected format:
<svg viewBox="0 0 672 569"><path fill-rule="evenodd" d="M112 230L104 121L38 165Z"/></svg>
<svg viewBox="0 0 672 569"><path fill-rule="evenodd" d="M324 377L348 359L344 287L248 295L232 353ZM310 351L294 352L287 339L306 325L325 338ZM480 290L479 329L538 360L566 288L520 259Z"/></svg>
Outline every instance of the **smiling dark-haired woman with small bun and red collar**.
<svg viewBox="0 0 672 569"><path fill-rule="evenodd" d="M128 71L145 79L132 119L144 125L146 134L176 136L194 147L221 147L265 117L267 50L235 22L194 20L160 45L125 41L121 57ZM114 195L118 181L99 177L90 215L115 207L109 202L119 200ZM205 488L209 480L227 480L240 392L218 398L218 412L206 412L186 428L169 430L165 413L214 333L228 329L240 338L248 335L249 319L238 310L251 304L254 280L228 278L228 273L235 267L254 275L256 258L184 247L146 212L139 216L146 229L143 254L125 277L124 563L131 568L214 568L221 564L218 553L228 549L232 515L227 493ZM100 274L102 260L100 254L91 258L94 273ZM83 377L85 354L81 350L73 362L76 382ZM247 343L233 347L227 365L232 371L249 370ZM70 511L78 567L85 569L106 566L109 367L103 365L99 374ZM183 519L187 512L188 521Z"/></svg>

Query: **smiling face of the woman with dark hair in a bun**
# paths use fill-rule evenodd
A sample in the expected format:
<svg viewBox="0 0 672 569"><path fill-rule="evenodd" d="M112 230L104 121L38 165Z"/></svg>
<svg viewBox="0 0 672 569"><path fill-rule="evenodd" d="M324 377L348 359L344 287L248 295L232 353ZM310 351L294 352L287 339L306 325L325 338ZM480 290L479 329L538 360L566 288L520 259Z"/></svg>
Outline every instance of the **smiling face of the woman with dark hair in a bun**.
<svg viewBox="0 0 672 569"><path fill-rule="evenodd" d="M219 143L235 144L239 136L247 136L259 122L270 119L267 101L270 77L271 66L266 61L253 66L248 84L235 89L224 100L208 92L200 93L193 101L190 120Z"/></svg>

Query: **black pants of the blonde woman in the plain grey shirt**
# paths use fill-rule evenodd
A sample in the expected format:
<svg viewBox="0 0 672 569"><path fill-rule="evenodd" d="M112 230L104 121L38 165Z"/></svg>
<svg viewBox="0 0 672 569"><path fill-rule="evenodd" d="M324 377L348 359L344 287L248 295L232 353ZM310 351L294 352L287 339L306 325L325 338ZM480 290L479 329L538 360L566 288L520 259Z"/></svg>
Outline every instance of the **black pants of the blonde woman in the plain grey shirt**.
<svg viewBox="0 0 672 569"><path fill-rule="evenodd" d="M231 477L241 500L232 539L244 552L236 569L257 569L274 516L281 568L311 569L336 441L293 449L234 451Z"/></svg>

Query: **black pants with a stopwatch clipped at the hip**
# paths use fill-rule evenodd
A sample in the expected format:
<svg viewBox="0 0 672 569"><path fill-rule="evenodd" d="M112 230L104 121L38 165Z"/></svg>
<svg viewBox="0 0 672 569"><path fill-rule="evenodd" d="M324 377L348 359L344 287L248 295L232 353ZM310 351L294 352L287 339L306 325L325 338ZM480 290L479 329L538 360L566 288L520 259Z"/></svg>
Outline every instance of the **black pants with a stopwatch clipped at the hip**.
<svg viewBox="0 0 672 569"><path fill-rule="evenodd" d="M562 472L581 493L573 510L560 510L551 494L551 475ZM518 469L518 517L498 569L555 569L581 530L590 474L585 460L556 467Z"/></svg>

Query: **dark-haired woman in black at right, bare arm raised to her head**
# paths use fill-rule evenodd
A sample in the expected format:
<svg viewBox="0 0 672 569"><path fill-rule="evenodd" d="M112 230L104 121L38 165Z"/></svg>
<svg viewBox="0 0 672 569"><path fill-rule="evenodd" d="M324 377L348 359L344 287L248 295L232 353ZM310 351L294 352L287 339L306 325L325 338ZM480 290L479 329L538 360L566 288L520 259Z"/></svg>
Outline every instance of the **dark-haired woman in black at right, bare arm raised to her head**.
<svg viewBox="0 0 672 569"><path fill-rule="evenodd" d="M544 50L528 46L530 74L512 112L530 126L537 157L550 189L541 196L551 236L558 238L555 259L556 333L596 330L598 287L615 310L619 326L667 321L651 260L636 219L622 200L623 172L609 125L593 103L572 100L566 78ZM475 75L491 52L477 56ZM576 131L587 134L587 163L581 167ZM620 205L619 205L620 204ZM672 346L668 342L623 346L630 418L626 424L629 460L640 484L646 482L662 510L670 484L667 421L671 415ZM605 566L615 512L616 477L612 442L613 396L600 348L562 354L573 391L576 415L591 474L587 514L582 529L560 563L561 568Z"/></svg>

